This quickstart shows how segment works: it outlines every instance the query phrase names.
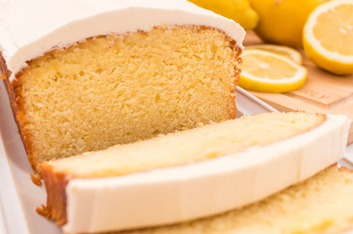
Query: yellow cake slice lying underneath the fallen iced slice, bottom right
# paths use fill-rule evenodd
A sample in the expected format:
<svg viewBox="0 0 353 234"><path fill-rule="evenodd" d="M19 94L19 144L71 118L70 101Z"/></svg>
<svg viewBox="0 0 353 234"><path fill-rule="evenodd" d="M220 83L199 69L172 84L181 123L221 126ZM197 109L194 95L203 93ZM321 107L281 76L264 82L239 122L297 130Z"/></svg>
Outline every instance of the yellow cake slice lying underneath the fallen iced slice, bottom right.
<svg viewBox="0 0 353 234"><path fill-rule="evenodd" d="M210 218L119 234L349 234L353 170L332 165L263 201ZM346 232L351 230L351 232Z"/></svg>

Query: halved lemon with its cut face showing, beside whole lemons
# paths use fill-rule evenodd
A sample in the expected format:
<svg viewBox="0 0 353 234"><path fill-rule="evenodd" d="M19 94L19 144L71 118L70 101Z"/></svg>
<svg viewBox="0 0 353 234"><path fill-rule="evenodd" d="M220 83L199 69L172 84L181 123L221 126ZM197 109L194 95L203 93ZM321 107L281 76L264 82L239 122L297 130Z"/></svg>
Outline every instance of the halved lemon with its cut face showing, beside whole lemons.
<svg viewBox="0 0 353 234"><path fill-rule="evenodd" d="M335 74L353 72L353 1L334 0L315 8L303 30L307 57Z"/></svg>

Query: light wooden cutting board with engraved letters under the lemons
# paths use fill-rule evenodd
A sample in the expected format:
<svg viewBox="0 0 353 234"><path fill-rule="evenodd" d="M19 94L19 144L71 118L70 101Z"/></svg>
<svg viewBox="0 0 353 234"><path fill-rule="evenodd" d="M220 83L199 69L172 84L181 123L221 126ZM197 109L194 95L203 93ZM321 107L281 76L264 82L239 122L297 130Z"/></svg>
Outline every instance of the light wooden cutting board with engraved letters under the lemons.
<svg viewBox="0 0 353 234"><path fill-rule="evenodd" d="M247 31L244 46L263 43L253 31ZM336 76L318 68L305 56L303 65L308 70L305 84L287 93L259 93L253 95L279 111L303 110L308 113L347 115L353 121L353 75ZM349 129L348 144L353 142L353 124Z"/></svg>

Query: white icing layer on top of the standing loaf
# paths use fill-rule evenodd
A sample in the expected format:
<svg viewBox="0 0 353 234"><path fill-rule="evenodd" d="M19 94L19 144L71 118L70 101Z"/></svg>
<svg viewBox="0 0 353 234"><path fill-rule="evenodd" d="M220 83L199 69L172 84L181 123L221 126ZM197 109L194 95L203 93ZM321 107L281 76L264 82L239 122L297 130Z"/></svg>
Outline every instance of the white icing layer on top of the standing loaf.
<svg viewBox="0 0 353 234"><path fill-rule="evenodd" d="M238 23L186 0L0 0L0 51L13 80L26 61L56 46L187 24L221 29L243 49L245 31Z"/></svg>

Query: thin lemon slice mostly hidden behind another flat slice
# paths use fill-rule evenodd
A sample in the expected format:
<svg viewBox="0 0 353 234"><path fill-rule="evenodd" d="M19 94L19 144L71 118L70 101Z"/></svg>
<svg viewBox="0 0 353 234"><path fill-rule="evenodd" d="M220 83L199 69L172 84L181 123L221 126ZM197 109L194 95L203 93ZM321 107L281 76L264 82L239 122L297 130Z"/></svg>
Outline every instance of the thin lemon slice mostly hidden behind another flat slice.
<svg viewBox="0 0 353 234"><path fill-rule="evenodd" d="M288 46L260 44L260 45L245 46L245 49L261 49L263 51L272 52L278 55L282 55L286 58L292 59L297 64L303 63L303 58L301 57L301 54L299 53L299 51Z"/></svg>

